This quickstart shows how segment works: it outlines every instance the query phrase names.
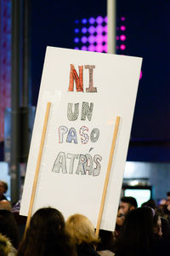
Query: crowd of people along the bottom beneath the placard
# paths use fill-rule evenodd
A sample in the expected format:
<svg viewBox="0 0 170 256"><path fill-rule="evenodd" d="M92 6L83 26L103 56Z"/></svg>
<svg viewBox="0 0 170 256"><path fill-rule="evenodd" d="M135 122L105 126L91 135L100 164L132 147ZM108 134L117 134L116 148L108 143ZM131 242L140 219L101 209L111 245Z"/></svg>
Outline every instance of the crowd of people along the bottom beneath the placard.
<svg viewBox="0 0 170 256"><path fill-rule="evenodd" d="M59 210L43 207L31 217L20 236L19 223L3 195L8 186L0 181L0 256L156 256L169 255L170 192L159 205L153 200L138 207L123 196L115 231L99 230L82 214L67 220Z"/></svg>

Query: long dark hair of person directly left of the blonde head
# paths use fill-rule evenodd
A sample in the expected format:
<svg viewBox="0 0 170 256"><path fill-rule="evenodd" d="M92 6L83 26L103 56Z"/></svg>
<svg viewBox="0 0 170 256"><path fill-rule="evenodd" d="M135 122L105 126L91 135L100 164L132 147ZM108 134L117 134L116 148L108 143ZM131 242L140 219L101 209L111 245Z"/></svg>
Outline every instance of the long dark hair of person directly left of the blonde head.
<svg viewBox="0 0 170 256"><path fill-rule="evenodd" d="M74 255L74 247L65 231L65 219L62 213L51 207L37 210L31 218L17 255Z"/></svg>

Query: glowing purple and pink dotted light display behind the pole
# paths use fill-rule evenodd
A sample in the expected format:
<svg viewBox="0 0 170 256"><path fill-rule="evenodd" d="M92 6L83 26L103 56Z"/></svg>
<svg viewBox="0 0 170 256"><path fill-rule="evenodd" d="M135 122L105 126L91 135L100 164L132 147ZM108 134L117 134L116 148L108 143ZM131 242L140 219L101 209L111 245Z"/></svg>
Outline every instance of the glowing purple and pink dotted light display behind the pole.
<svg viewBox="0 0 170 256"><path fill-rule="evenodd" d="M126 24L125 17L117 19L116 26L116 50L119 54L125 54L126 49ZM75 49L96 52L107 52L107 16L75 20Z"/></svg>

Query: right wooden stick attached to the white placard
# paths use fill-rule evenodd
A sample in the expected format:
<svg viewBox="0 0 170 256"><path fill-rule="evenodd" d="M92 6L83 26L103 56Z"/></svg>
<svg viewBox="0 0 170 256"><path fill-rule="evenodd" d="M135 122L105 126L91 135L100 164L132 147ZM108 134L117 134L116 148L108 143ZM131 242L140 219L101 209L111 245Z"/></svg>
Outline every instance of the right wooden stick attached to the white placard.
<svg viewBox="0 0 170 256"><path fill-rule="evenodd" d="M119 127L119 122L120 122L120 116L117 116L115 131L114 131L113 140L111 143L111 152L110 152L110 157L109 157L109 163L107 166L107 172L105 174L105 184L104 184L102 199L101 199L100 208L99 208L98 222L97 222L97 227L96 227L96 232L95 232L95 235L97 237L99 237L99 228L100 228L101 218L102 218L102 214L103 214L103 210L104 210L104 206L105 206L105 196L106 196L107 187L108 187L108 183L109 183L109 177L110 177L110 173L111 173L111 164L112 164L113 154L114 154L115 145L116 145L116 136L117 136L117 131L118 131L118 127Z"/></svg>

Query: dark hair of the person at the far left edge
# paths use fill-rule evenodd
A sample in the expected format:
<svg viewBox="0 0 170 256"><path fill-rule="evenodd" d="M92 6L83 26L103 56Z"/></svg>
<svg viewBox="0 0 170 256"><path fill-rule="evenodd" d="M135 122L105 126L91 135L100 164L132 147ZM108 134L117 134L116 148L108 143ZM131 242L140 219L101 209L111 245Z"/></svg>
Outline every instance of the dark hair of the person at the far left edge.
<svg viewBox="0 0 170 256"><path fill-rule="evenodd" d="M19 230L13 212L0 210L0 233L7 236L15 248L19 245Z"/></svg>

